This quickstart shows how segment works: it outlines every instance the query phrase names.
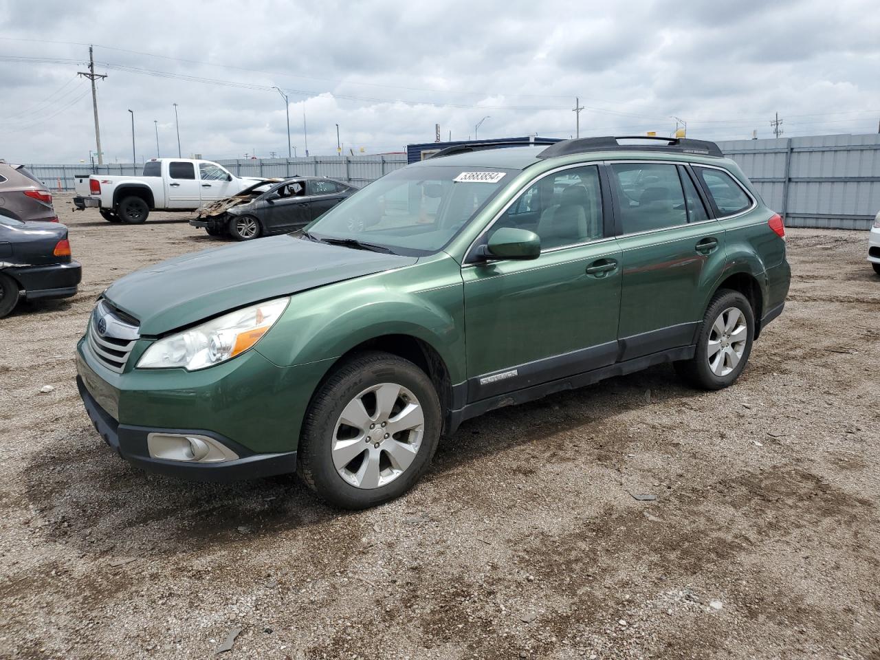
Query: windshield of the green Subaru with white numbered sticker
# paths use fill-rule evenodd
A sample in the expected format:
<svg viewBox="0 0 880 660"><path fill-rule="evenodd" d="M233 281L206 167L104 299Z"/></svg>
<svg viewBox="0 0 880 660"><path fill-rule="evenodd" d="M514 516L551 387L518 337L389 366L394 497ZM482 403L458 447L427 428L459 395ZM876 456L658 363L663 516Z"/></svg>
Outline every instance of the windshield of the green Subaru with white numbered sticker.
<svg viewBox="0 0 880 660"><path fill-rule="evenodd" d="M497 167L404 167L357 191L306 229L313 238L356 240L398 254L435 253L518 172Z"/></svg>

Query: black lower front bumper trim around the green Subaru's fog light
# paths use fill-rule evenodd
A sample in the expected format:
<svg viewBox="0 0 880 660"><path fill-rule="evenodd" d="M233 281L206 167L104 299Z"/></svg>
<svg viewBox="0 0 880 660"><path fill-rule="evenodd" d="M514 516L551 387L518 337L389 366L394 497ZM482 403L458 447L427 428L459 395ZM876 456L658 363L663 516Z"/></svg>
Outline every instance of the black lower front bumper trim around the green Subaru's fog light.
<svg viewBox="0 0 880 660"><path fill-rule="evenodd" d="M99 406L98 401L92 397L91 392L84 385L83 378L79 376L77 376L77 389L83 400L85 412L106 444L113 447L121 458L125 458L132 465L142 467L144 470L190 480L234 481L292 473L297 469L296 451L256 454L213 431L153 429L120 424L104 408ZM147 436L157 432L209 436L235 451L240 458L222 463L195 463L153 458L150 456L147 446Z"/></svg>

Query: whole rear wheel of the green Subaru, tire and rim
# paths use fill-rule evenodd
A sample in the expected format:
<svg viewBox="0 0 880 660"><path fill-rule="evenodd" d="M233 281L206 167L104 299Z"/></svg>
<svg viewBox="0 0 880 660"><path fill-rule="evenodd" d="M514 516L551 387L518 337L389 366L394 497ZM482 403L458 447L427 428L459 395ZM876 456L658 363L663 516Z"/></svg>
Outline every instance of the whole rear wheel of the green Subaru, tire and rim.
<svg viewBox="0 0 880 660"><path fill-rule="evenodd" d="M675 368L682 378L702 389L733 385L752 353L754 334L752 304L739 291L722 289L703 317L693 358L675 363Z"/></svg>

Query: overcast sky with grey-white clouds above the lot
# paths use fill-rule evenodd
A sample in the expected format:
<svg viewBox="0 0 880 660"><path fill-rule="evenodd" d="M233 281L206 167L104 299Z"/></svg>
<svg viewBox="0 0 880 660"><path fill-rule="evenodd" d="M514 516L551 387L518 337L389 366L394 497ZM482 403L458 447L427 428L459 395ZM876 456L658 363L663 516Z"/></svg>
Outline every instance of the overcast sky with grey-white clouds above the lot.
<svg viewBox="0 0 880 660"><path fill-rule="evenodd" d="M403 150L473 136L875 133L876 0L150 3L0 0L0 158ZM157 123L154 124L154 121Z"/></svg>

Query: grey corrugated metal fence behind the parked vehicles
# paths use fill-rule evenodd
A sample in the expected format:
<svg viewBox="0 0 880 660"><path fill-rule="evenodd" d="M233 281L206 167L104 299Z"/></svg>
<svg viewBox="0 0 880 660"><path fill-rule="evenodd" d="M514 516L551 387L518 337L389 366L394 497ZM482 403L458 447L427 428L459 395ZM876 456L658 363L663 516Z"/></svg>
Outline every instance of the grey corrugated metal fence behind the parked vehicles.
<svg viewBox="0 0 880 660"><path fill-rule="evenodd" d="M880 135L729 140L737 161L789 227L869 229L880 210ZM239 176L326 176L361 187L406 165L403 154L218 160ZM28 165L51 189L70 190L89 165ZM99 174L135 174L141 165L98 165Z"/></svg>

